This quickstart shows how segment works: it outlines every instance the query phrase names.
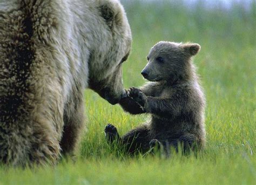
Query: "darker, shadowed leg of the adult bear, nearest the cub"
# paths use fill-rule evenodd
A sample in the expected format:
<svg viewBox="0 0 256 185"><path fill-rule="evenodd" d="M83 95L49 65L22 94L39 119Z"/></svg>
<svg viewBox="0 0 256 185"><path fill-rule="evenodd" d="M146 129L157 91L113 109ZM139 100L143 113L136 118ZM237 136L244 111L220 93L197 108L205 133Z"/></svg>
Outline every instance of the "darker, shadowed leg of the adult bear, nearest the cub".
<svg viewBox="0 0 256 185"><path fill-rule="evenodd" d="M60 141L60 147L64 155L73 155L79 141L80 132L83 130L84 122L84 106L80 101L72 113L64 114L63 136Z"/></svg>

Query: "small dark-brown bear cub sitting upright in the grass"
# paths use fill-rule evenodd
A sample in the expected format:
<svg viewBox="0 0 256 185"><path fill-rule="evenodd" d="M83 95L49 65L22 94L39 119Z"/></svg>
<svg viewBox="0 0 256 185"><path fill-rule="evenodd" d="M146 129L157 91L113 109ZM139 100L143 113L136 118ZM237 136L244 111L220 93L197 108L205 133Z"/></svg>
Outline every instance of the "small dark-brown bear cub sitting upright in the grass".
<svg viewBox="0 0 256 185"><path fill-rule="evenodd" d="M192 56L200 45L191 43L159 42L154 45L142 71L151 81L141 88L131 87L129 95L119 104L131 114L150 113L151 119L123 137L113 125L105 127L106 139L117 139L127 152L146 152L151 147L165 150L179 143L183 150L205 146L205 98L199 85Z"/></svg>

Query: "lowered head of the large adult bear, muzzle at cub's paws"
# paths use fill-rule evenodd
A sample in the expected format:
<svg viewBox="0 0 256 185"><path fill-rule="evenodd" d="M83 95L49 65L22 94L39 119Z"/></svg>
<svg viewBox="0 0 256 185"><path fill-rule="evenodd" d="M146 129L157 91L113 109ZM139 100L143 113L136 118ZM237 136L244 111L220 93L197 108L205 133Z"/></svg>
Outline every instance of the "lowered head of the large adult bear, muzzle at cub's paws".
<svg viewBox="0 0 256 185"><path fill-rule="evenodd" d="M126 96L122 64L131 48L131 30L119 1L92 1L90 31L89 87L111 104ZM90 16L89 16L90 17Z"/></svg>

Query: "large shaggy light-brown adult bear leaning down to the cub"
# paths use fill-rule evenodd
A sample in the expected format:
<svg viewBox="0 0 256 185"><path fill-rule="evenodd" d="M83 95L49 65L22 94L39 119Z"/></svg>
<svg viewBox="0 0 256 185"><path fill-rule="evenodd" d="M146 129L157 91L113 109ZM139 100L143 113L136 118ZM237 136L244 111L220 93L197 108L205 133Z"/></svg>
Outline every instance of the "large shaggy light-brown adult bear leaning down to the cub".
<svg viewBox="0 0 256 185"><path fill-rule="evenodd" d="M0 2L0 163L55 163L83 127L83 91L125 95L131 31L113 0Z"/></svg>

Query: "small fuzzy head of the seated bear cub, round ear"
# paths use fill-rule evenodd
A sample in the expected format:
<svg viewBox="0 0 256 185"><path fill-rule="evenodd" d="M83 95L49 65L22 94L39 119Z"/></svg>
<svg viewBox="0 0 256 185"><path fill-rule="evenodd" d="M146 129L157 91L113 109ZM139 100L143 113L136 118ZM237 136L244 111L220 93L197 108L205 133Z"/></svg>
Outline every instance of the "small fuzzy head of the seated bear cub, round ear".
<svg viewBox="0 0 256 185"><path fill-rule="evenodd" d="M191 75L191 57L199 50L199 44L161 41L151 48L142 75L149 81L186 80Z"/></svg>

